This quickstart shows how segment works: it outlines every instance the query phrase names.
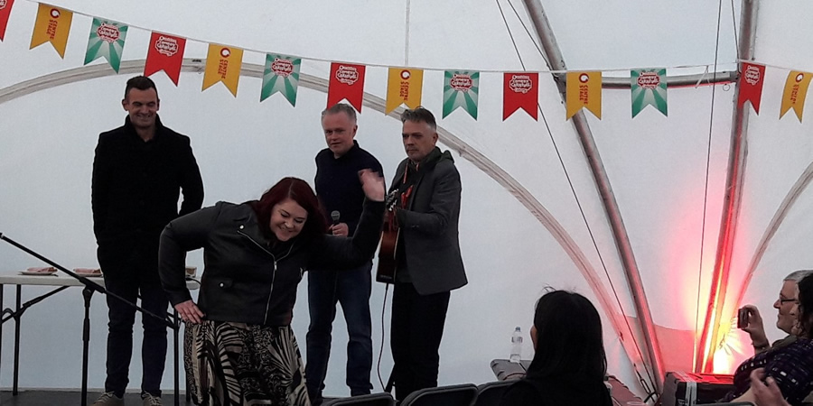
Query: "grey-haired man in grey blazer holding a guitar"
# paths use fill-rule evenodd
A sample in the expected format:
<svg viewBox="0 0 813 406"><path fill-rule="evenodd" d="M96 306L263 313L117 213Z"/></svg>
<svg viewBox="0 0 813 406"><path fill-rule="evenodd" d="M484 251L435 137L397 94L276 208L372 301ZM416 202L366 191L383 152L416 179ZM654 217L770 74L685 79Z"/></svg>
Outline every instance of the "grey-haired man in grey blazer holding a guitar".
<svg viewBox="0 0 813 406"><path fill-rule="evenodd" d="M467 283L458 241L460 173L441 152L435 116L418 107L401 115L407 158L398 165L399 229L390 346L396 397L437 386L450 291Z"/></svg>

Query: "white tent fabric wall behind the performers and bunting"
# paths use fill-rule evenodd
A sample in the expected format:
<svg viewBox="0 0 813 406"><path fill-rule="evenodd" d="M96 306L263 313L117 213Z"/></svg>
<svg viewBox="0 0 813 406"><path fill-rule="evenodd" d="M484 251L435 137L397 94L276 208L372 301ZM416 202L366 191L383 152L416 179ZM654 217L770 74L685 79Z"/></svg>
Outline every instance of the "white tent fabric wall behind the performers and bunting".
<svg viewBox="0 0 813 406"><path fill-rule="evenodd" d="M737 4L732 10L732 5L722 3L718 37L716 3L542 3L570 69L602 69L604 75L616 77L641 67L667 67L670 75L703 72L706 67L715 67L718 38L716 69L736 69ZM575 242L587 261L584 269L601 281L611 299L611 308L600 309L606 321L610 373L643 392L632 366L640 364L640 355L629 346L624 348L632 337L640 339L637 333L623 331L623 320L637 316L629 287L584 152L572 125L565 121L565 108L550 75L540 77L539 96L550 133L541 119L535 122L521 112L501 120L500 72L521 69L506 22L527 69L547 70L514 15L511 6L531 29L524 7L516 0L499 1L506 22L498 2L487 1L378 4L305 0L257 5L238 0L228 7L191 0L145 0L138 4L59 0L53 4L131 24L123 60L143 59L149 30L154 30L194 40L187 44L187 58L203 58L205 42L220 42L247 49L247 63L262 64L263 51L302 56L302 71L318 78L326 78L331 60L368 64L365 90L378 97L385 94L388 66L431 69L425 72L423 103L438 116L443 69L482 70L478 120L456 111L440 125L527 189ZM0 43L0 89L82 64L90 18L74 17L68 51L61 60L48 45L28 50L35 13L32 2L14 4L5 42ZM803 34L808 31L803 18L810 14L813 6L800 0L760 4L755 55L769 68L762 113L751 115L747 134L743 208L725 302L726 320L742 304L738 302L742 290L743 302L756 304L766 325L771 324L771 303L781 278L794 269L813 268L813 254L805 249L813 232L813 224L805 216L813 205L808 189L800 192L777 226L759 263L751 265L771 219L813 156L808 137L810 120L799 123L792 114L778 118L787 70L809 70L813 65L813 54L797 51L809 49L808 42L813 41L813 35ZM360 16L375 18L357 23ZM789 42L789 37L795 40ZM0 232L69 267L96 263L89 208L90 165L98 133L123 120L119 100L128 77L78 81L0 104ZM313 180L313 156L324 143L319 125L326 100L322 92L301 88L297 106L292 107L282 97L258 103L258 78L241 78L236 98L221 86L201 92L201 78L200 73L183 73L176 88L163 73L154 75L164 123L192 137L206 187L205 205L256 198L285 175ZM630 234L668 370L692 368L696 343L687 342L696 337L697 320L702 323L706 316L731 133L733 86L670 89L668 117L649 108L634 119L629 91L605 89L603 119L588 115ZM404 156L399 123L365 106L359 125L360 144L378 157L386 176L391 177ZM493 379L488 361L508 355L511 331L514 326L524 331L529 328L534 303L548 286L573 289L594 303L600 301L561 240L470 158L466 152L455 154L463 179L460 231L470 284L452 295L441 348L441 383ZM0 257L4 259L0 272L37 264L8 245L0 245ZM202 269L201 255L192 254L190 263ZM744 286L751 268L752 279ZM307 329L304 288L303 283L294 309L294 331L303 340L301 345ZM42 290L27 289L24 296L31 298L37 292ZM374 343L376 348L384 347L382 374L386 380L391 362L383 295L383 286L377 285L370 303L376 319ZM5 307L11 296L6 290ZM104 351L98 350L104 347L106 330L101 301L96 297L92 309L91 342L97 350L90 358L91 387L102 386L104 380ZM78 386L80 318L78 290L62 292L26 313L21 385ZM621 331L613 328L611 318L620 320ZM334 325L328 393L347 391L343 383L346 334L342 322L337 319ZM780 336L770 326L766 330L771 339ZM721 356L721 370L751 351L742 332L727 327L724 331L721 347L731 356ZM5 329L5 343L12 342L11 333ZM7 366L11 364L11 350L5 345L0 354L4 365L0 386L11 384ZM138 352L136 346L134 353ZM525 352L532 354L529 346ZM61 367L52 367L55 365ZM67 365L75 365L77 373L66 373L70 370ZM640 367L638 373L645 375ZM131 368L134 387L138 376L136 356ZM171 383L171 375L165 374L164 386Z"/></svg>

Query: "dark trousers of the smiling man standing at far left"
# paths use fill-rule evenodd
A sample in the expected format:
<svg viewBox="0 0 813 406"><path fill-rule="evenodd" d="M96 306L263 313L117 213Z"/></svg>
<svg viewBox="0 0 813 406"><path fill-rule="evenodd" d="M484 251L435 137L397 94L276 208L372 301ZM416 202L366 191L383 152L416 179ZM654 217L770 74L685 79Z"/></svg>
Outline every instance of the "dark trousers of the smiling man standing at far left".
<svg viewBox="0 0 813 406"><path fill-rule="evenodd" d="M117 258L102 259L107 291L135 303L141 294L141 307L158 316L166 315L168 300L158 278L158 253L153 246L135 247ZM129 383L130 358L133 355L135 309L107 295L107 380L105 392L123 396ZM144 340L141 344L143 375L141 390L161 396L161 378L166 360L166 325L162 320L142 315Z"/></svg>

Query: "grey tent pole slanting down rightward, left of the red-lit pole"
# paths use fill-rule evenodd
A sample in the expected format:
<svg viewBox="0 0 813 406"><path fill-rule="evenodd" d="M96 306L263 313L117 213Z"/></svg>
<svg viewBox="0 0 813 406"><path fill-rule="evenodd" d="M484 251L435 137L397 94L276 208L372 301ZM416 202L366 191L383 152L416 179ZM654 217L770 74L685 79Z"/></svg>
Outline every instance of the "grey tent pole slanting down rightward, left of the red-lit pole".
<svg viewBox="0 0 813 406"><path fill-rule="evenodd" d="M556 43L553 29L547 21L545 11L542 9L542 4L539 0L525 0L525 5L528 7L528 14L534 23L537 30L539 42L545 51L546 60L550 65L551 70L565 70L565 60L562 52ZM565 81L559 80L561 74L554 74L554 78L559 87L559 92L565 98ZM595 180L596 187L601 195L604 212L610 221L612 227L612 235L615 240L615 246L618 254L623 263L624 273L627 276L627 281L630 284L632 299L635 302L635 310L638 314L638 324L644 336L644 346L649 355L649 364L654 369L654 379L657 392L663 391L663 360L660 354L660 346L658 337L655 333L655 325L652 322L652 314L649 311L649 303L647 301L646 293L644 292L643 285L640 281L640 272L638 263L635 262L635 256L632 253L632 246L630 244L630 237L627 234L626 227L624 226L623 219L621 218L621 211L618 208L618 203L615 201L615 195L612 192L610 185L610 178L607 176L607 171L604 170L603 161L599 154L598 148L593 139L593 133L590 131L590 126L587 124L587 119L584 116L584 111L579 111L573 116L573 125L575 126L576 133L579 136L579 141L584 149L584 155L590 165L590 170L593 172L593 179Z"/></svg>

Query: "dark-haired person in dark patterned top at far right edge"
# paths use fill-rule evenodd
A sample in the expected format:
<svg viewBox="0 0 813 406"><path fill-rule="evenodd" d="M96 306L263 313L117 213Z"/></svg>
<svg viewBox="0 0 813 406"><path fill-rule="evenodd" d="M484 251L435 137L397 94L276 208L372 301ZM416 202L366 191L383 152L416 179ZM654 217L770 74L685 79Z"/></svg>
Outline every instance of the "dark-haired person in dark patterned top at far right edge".
<svg viewBox="0 0 813 406"><path fill-rule="evenodd" d="M770 383L779 387L782 397L791 405L800 405L813 390L813 275L799 281L799 300L791 314L797 316L794 334L799 338L788 346L771 348L763 353L753 355L740 364L734 373L734 390L723 398L723 401L756 402L752 390L752 372L757 381ZM770 379L769 379L770 378ZM758 388L762 391L762 387ZM764 391L762 391L764 392ZM757 403L760 404L760 403Z"/></svg>

